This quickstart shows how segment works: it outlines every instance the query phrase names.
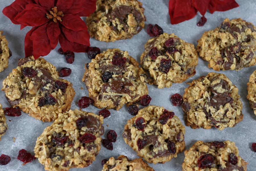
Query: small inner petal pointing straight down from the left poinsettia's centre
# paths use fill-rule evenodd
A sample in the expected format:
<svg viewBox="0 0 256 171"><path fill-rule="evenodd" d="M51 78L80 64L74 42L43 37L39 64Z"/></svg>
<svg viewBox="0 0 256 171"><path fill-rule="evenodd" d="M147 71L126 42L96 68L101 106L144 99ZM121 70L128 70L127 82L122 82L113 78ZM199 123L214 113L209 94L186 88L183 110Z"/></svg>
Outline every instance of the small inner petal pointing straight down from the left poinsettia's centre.
<svg viewBox="0 0 256 171"><path fill-rule="evenodd" d="M46 27L46 33L50 39L51 48L54 49L59 41L60 28L59 23L49 22Z"/></svg>

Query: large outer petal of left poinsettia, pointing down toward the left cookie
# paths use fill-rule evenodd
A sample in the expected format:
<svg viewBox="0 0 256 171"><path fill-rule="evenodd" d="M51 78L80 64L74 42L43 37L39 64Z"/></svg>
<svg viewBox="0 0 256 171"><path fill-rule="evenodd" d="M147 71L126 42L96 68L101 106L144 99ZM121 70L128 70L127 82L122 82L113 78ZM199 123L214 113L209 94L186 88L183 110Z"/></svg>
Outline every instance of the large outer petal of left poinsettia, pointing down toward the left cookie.
<svg viewBox="0 0 256 171"><path fill-rule="evenodd" d="M48 55L53 49L51 48L50 40L46 33L47 25L48 23L38 27L30 36L30 39L33 41L34 58Z"/></svg>

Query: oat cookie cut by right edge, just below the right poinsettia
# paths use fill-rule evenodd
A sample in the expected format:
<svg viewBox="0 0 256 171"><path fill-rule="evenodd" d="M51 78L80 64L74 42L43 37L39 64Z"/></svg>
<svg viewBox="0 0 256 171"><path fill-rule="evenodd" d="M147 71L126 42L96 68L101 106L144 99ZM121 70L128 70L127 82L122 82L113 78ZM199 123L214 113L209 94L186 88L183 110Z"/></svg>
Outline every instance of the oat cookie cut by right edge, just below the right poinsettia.
<svg viewBox="0 0 256 171"><path fill-rule="evenodd" d="M256 27L241 18L225 19L219 27L204 32L197 45L199 56L216 71L254 66L255 50Z"/></svg>

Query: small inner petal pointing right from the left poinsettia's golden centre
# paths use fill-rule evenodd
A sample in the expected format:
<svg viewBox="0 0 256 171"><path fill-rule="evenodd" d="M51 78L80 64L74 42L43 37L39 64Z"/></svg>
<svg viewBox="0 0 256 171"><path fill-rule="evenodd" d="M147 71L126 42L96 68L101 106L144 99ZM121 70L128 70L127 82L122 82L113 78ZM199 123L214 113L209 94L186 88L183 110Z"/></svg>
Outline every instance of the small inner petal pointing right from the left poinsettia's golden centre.
<svg viewBox="0 0 256 171"><path fill-rule="evenodd" d="M87 29L84 21L77 15L74 14L65 14L61 18L62 22L60 22L63 26L70 30L85 30Z"/></svg>

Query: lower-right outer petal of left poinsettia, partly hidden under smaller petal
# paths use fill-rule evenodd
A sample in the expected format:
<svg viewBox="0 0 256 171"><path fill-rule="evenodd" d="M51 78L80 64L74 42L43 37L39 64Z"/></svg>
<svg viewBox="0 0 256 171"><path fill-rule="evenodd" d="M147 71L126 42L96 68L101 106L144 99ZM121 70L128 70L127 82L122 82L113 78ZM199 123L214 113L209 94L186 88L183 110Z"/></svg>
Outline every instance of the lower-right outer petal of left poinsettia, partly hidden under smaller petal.
<svg viewBox="0 0 256 171"><path fill-rule="evenodd" d="M69 41L63 32L59 35L59 44L61 45L62 50L65 52L71 50L73 52L88 52L89 46L78 44L76 42Z"/></svg>

